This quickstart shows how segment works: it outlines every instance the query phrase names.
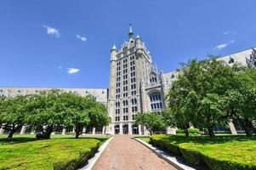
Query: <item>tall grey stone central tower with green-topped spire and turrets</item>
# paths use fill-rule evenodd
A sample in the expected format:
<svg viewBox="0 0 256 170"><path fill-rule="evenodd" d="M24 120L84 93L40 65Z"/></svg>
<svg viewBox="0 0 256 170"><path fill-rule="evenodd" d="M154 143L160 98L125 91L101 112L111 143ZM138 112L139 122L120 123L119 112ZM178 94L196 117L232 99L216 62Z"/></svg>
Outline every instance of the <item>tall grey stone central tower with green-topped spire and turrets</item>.
<svg viewBox="0 0 256 170"><path fill-rule="evenodd" d="M136 115L151 111L151 90L158 88L156 68L151 54L129 26L128 42L122 48L111 48L110 87L108 112L112 123L109 133L141 134L144 128L135 126ZM154 83L153 83L154 82Z"/></svg>

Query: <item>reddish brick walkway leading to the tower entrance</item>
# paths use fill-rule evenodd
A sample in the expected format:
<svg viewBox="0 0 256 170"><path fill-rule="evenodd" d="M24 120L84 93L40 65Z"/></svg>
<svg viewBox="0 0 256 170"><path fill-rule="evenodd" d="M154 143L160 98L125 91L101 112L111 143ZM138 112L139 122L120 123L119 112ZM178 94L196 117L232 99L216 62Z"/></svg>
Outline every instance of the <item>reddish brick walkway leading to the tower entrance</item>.
<svg viewBox="0 0 256 170"><path fill-rule="evenodd" d="M145 145L128 135L116 135L104 150L93 170L176 169L156 156Z"/></svg>

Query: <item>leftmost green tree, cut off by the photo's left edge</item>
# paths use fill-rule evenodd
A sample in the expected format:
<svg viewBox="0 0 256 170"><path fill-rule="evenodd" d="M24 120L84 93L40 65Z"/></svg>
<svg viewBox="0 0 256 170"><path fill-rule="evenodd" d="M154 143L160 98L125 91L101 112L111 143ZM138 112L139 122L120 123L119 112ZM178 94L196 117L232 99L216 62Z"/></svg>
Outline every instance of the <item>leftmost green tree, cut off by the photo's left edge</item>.
<svg viewBox="0 0 256 170"><path fill-rule="evenodd" d="M32 109L32 95L18 95L14 98L2 98L0 102L1 121L6 123L3 129L9 130L8 140L14 133L28 122Z"/></svg>

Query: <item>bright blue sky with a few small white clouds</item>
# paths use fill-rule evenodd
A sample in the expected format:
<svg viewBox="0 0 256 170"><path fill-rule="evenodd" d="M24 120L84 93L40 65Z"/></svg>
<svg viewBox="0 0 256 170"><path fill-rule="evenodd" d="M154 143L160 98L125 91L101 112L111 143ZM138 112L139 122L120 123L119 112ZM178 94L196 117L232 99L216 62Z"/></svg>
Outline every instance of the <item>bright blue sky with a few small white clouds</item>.
<svg viewBox="0 0 256 170"><path fill-rule="evenodd" d="M256 46L255 0L3 0L0 87L108 88L133 24L158 70Z"/></svg>

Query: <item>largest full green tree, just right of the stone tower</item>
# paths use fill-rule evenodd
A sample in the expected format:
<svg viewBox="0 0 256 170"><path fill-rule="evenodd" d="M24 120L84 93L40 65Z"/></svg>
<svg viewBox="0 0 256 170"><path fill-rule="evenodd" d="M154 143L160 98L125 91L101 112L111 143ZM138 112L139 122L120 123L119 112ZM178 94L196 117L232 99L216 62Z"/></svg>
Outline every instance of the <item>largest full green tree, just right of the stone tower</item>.
<svg viewBox="0 0 256 170"><path fill-rule="evenodd" d="M232 81L236 65L227 66L211 56L200 62L192 59L183 66L167 98L176 125L186 132L190 123L200 124L213 137L213 126L228 117L222 100L225 92L236 86Z"/></svg>

